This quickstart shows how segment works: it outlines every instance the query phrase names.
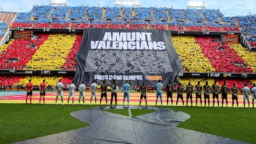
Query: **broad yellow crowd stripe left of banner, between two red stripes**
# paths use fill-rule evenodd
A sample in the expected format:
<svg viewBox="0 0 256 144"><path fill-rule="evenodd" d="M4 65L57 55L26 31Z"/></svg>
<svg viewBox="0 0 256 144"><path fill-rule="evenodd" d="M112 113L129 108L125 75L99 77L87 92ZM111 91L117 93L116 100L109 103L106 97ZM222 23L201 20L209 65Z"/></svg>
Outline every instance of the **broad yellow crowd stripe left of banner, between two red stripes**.
<svg viewBox="0 0 256 144"><path fill-rule="evenodd" d="M24 69L61 70L75 38L75 35L69 34L49 35L48 40L41 44Z"/></svg>

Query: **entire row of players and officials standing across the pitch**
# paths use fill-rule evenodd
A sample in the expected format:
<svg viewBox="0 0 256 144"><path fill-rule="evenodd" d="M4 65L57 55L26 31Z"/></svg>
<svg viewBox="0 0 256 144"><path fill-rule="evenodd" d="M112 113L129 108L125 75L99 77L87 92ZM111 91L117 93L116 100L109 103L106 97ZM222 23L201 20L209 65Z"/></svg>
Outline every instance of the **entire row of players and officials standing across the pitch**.
<svg viewBox="0 0 256 144"><path fill-rule="evenodd" d="M253 88L250 90L249 87L247 87L247 85L245 84L244 88L242 88L242 93L243 93L243 100L244 100L244 107L245 107L245 100L248 101L248 106L250 107L250 101L249 101L249 95L250 92L252 93L252 107L254 108L254 99L256 96L256 87L255 87L255 83L253 84ZM167 106L168 106L168 101L169 98L171 99L171 106L173 106L173 92L174 92L174 88L175 85L173 83L171 83L171 81L169 81L168 85L166 85L166 95L167 95ZM26 104L27 104L27 100L28 100L28 96L30 96L30 104L32 103L32 90L33 90L33 83L31 82L31 80L29 80L29 82L26 85L26 90L27 90L27 97L26 97ZM43 80L43 82L40 84L40 104L41 104L41 100L43 98L43 103L45 104L45 91L46 91L46 83L45 80ZM56 104L58 101L58 97L61 96L61 102L63 104L63 88L64 88L64 84L61 82L61 80L59 80L59 82L56 85L57 88L57 95L56 95ZM76 89L76 85L74 84L74 82L72 82L69 85L69 98L67 100L67 104L69 104L69 100L70 97L72 97L72 104L74 104L74 95L75 95L75 89ZM116 83L116 80L113 80L113 83L111 83L110 85L111 88L111 102L110 105L112 106L113 104L113 98L115 99L115 105L117 106L117 90L118 90L118 85ZM92 104L92 98L93 96L95 97L95 104L96 104L96 96L97 96L97 89L98 89L98 85L96 84L96 81L93 80L93 83L90 85L90 90L91 92L91 98L90 98L90 104ZM108 100L107 100L107 85L105 82L103 82L103 84L100 87L101 89L101 98L100 98L100 104L101 104L101 100L102 98L105 98L106 100L106 104L108 104ZM85 104L85 90L86 90L86 85L82 82L79 87L79 104L80 104L80 100L81 98L83 99L83 104ZM130 90L130 84L129 84L129 80L126 81L126 83L123 85L123 91L124 91L124 99L123 99L123 105L124 102L127 98L127 103L129 105L129 90ZM163 90L163 84L161 83L161 80L158 80L158 83L156 83L156 103L155 106L157 105L158 102L158 98L160 98L161 100L161 106L162 106L162 90ZM192 93L193 91L195 91L195 97L196 97L196 106L197 106L197 100L200 100L200 106L202 106L202 93L204 95L204 99L205 99L205 106L207 106L206 102L208 100L208 106L210 106L210 93L212 93L213 95L213 107L215 106L215 98L217 100L218 103L218 107L220 106L219 104L219 99L218 99L218 95L221 92L221 99L222 99L222 106L223 107L223 102L224 100L226 100L226 107L228 107L228 90L229 88L226 86L226 82L223 83L223 85L220 86L216 84L216 81L214 82L214 84L210 87L210 85L208 85L208 82L205 82L205 85L200 85L200 82L197 83L197 85L195 86L195 88L190 84L190 82L188 83L188 85L186 86L186 93L187 93L187 103L186 106L188 106L188 100L190 99L190 103L192 106ZM184 106L184 100L183 100L183 93L185 91L184 85L182 85L181 83L177 84L177 101L176 101L176 106L177 103L179 101L179 99L182 100L182 104ZM236 88L236 84L233 84L233 88L231 88L232 91L232 106L234 106L234 100L236 100L236 104L237 104L237 108L238 108L238 101L237 101L237 94L239 92L239 90ZM145 86L145 83L142 83L142 86L140 86L140 104L142 102L142 99L145 99L145 103L147 106L147 87ZM139 106L140 106L139 104Z"/></svg>

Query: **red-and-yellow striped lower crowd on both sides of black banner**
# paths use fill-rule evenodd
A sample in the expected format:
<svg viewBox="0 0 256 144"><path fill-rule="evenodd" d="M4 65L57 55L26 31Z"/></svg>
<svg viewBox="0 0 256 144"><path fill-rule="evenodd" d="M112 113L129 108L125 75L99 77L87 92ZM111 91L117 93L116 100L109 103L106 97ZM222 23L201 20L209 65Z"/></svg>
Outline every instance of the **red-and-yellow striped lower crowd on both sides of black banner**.
<svg viewBox="0 0 256 144"><path fill-rule="evenodd" d="M82 34L39 33L32 40L11 40L0 47L0 69L9 70L75 70L75 56L80 48ZM247 51L239 43L223 43L216 36L172 36L174 48L181 60L183 72L231 72L255 73L255 51ZM59 79L66 85L73 77L41 77L1 75L0 86L23 85L32 79L34 85L40 85L46 79L48 85L55 86ZM219 85L226 81L229 88L236 83L237 88L244 83L256 83L250 79L215 79ZM201 85L213 79L181 78L181 83ZM98 83L101 84L101 83Z"/></svg>

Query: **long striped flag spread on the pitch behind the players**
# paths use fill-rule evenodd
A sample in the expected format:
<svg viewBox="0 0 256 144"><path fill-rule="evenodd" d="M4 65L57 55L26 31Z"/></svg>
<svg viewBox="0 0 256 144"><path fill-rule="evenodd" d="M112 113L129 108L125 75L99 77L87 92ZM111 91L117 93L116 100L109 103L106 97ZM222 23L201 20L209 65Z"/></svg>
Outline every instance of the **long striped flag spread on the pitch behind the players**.
<svg viewBox="0 0 256 144"><path fill-rule="evenodd" d="M90 91L87 91L85 93L85 104L90 104ZM63 100L64 100L64 104L67 104L67 98L69 96L69 92L68 91L64 91L64 95L63 95ZM186 106L186 93L183 94L184 97L184 106ZM117 93L117 104L118 105L122 105L123 104L123 93L122 92L118 92ZM167 105L167 97L166 97L166 93L163 93L163 106ZM228 107L232 107L232 96L231 94L228 94ZM250 97L251 98L251 97ZM0 93L0 103L24 103L25 104L25 99L26 99L26 92L25 91L2 91ZM239 103L239 108L242 108L243 105L243 96L242 95L238 95L238 103ZM39 100L40 100L40 93L39 91L34 91L33 92L33 96L32 96L32 104L39 104ZM45 96L45 104L56 104L55 103L56 100L56 91L46 91L46 96ZM107 100L108 103L107 105L110 104L110 100L111 100L111 92L108 92L108 96L107 96ZM155 101L156 101L156 93L155 91L150 91L147 93L147 103L148 106L155 106ZM176 106L176 101L177 101L177 93L173 93L173 106ZM28 100L29 102L29 100ZM130 98L129 98L129 105L139 105L140 102L140 93L139 92L130 92ZM197 100L197 106L205 106L204 104L205 100L203 98L202 95L202 105L200 104L200 99ZM221 94L219 95L219 103L220 103L220 107L222 106L221 104L222 100L221 100ZM171 100L169 99L168 102L168 106L172 106L171 104ZM192 106L196 106L196 101L195 101L195 94L193 94L193 98L192 98ZM41 100L41 104L43 104L43 100ZM61 97L59 96L58 98L58 102L57 104L62 104L61 103ZM72 99L70 99L69 104L72 104ZM75 91L75 97L74 97L74 104L79 104L79 92ZM82 98L80 101L80 104L83 104ZM93 97L92 99L92 104L95 104L95 98ZM96 104L100 104L100 91L98 91L97 93L97 97L96 97ZM105 105L106 104L106 100L105 98L102 99L101 104ZM126 101L124 103L125 105L127 105L127 98ZM206 106L208 107L208 101L206 101ZM114 105L114 100L113 100L113 105ZM142 106L145 106L145 100L142 100L141 103ZM158 99L158 106L161 106L161 101L160 98ZM179 99L177 106L183 106L182 104L182 100ZM188 100L188 106L191 106L190 104L190 100ZM213 98L212 95L210 94L210 107L213 106ZM217 100L215 99L215 107L218 107L218 103ZM226 107L226 100L224 100L224 107ZM245 102L245 107L248 108L248 104L247 101ZM237 108L236 105L236 101L234 101L234 108ZM252 100L250 100L250 108L252 108Z"/></svg>

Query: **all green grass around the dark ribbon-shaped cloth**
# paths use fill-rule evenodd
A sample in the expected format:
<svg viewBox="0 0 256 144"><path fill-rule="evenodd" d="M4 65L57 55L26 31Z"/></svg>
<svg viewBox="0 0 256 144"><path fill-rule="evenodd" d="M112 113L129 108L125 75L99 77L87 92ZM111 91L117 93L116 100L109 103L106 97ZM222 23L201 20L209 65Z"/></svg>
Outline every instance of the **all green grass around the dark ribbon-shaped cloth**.
<svg viewBox="0 0 256 144"><path fill-rule="evenodd" d="M0 143L13 143L53 133L86 127L87 124L74 119L70 112L94 106L71 106L53 104L0 104ZM167 108L167 107L163 107ZM190 114L191 118L178 125L185 129L211 133L221 137L256 143L255 109L248 108L200 108L168 107ZM127 109L112 112L127 116ZM132 109L137 116L152 110Z"/></svg>

